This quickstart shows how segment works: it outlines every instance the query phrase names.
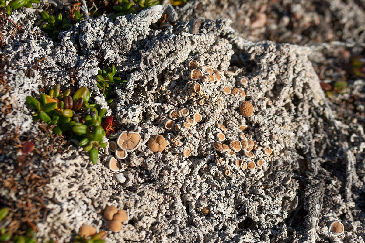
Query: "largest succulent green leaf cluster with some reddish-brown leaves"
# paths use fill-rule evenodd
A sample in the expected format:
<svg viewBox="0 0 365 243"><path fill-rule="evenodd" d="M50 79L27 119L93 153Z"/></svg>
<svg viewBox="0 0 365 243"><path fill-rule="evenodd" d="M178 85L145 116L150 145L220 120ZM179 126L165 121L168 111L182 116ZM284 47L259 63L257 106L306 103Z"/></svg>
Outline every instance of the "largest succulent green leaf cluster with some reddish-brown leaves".
<svg viewBox="0 0 365 243"><path fill-rule="evenodd" d="M105 108L98 111L95 104L89 104L90 91L81 87L71 96L71 90L60 91L60 86L55 85L49 94L41 94L40 101L27 96L27 103L35 111L33 119L46 122L53 126L53 132L62 134L71 132L73 138L85 151L90 152L91 161L96 164L99 147L104 148L104 129L100 126Z"/></svg>

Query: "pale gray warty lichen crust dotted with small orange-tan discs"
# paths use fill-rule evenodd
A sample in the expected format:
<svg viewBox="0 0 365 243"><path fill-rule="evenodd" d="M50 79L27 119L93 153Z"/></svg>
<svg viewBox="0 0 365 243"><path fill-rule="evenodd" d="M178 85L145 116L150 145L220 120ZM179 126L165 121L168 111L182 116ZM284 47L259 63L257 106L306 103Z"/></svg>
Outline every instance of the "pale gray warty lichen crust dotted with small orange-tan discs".
<svg viewBox="0 0 365 243"><path fill-rule="evenodd" d="M152 29L170 13L166 9L156 5L114 22L105 16L83 21L61 32L60 43L33 34L30 24L6 39L4 70L18 106L3 128L29 131L25 97L54 83L68 88L72 78L91 90L122 131L142 139L119 160L117 173L108 168L115 155L108 149L93 166L78 150L47 161L52 200L38 235L65 242L84 223L107 230L103 210L114 205L128 220L120 232L108 231L107 242L361 242L363 230L356 227L363 229L364 221L339 218L350 210L347 199L339 195L333 202L338 207L323 210L324 195L339 193L341 185L333 179L325 187L331 177L319 169L326 159L316 141L328 137L328 110L309 49L248 42L226 19ZM128 78L114 86L113 113L96 86L100 60ZM253 105L253 115L240 113L243 101ZM158 134L167 145L153 152L147 145ZM241 146L231 144L235 140ZM218 142L226 146L214 147ZM336 220L343 220L344 234L328 232Z"/></svg>

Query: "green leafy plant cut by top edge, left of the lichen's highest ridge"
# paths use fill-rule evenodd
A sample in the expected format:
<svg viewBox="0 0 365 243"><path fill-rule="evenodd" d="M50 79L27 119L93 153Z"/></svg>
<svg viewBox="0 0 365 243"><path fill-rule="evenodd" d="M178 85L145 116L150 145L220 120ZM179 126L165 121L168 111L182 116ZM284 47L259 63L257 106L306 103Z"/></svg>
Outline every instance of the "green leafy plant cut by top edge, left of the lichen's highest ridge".
<svg viewBox="0 0 365 243"><path fill-rule="evenodd" d="M118 0L120 5L113 6L113 9L119 13L115 14L112 19L116 17L127 15L128 13L138 13L141 9L146 9L159 4L159 0Z"/></svg>

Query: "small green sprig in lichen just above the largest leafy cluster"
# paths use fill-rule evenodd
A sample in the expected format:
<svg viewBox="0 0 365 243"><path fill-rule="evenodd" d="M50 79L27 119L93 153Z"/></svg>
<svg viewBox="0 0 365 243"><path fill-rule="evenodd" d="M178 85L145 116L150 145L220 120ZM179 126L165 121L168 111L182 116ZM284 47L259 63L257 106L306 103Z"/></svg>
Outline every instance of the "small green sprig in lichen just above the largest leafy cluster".
<svg viewBox="0 0 365 243"><path fill-rule="evenodd" d="M126 80L122 80L122 78L115 77L115 65L113 64L111 67L106 68L104 71L99 69L97 71L97 82L96 85L99 87L101 94L103 94L105 100L108 103L111 103L113 99L108 99L109 91L111 90L111 83L124 83Z"/></svg>

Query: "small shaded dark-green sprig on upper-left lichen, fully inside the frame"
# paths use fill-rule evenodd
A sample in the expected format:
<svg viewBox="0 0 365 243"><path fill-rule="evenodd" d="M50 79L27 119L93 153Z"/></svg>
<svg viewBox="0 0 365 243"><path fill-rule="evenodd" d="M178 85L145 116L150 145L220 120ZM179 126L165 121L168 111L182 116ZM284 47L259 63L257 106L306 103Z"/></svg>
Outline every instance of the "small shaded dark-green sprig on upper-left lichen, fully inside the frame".
<svg viewBox="0 0 365 243"><path fill-rule="evenodd" d="M58 37L59 31L68 30L73 26L73 24L71 24L70 21L68 21L62 16L62 13L59 13L57 15L57 18L54 15L49 15L46 11L42 11L41 15L43 20L48 22L48 24L43 24L43 28L45 29L47 34L51 36L53 39L56 39ZM73 20L74 23L82 19L81 13L77 10L75 10L74 16L75 16Z"/></svg>

